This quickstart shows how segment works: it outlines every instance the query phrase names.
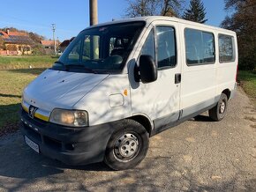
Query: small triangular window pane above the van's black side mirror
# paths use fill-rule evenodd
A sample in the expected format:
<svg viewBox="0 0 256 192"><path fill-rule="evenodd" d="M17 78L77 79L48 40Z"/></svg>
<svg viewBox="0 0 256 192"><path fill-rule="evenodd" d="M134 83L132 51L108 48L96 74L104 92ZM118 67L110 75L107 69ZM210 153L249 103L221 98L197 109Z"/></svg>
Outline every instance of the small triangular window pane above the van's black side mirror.
<svg viewBox="0 0 256 192"><path fill-rule="evenodd" d="M155 61L155 48L154 48L154 29L147 36L147 40L144 42L141 48L140 55L151 55Z"/></svg>

